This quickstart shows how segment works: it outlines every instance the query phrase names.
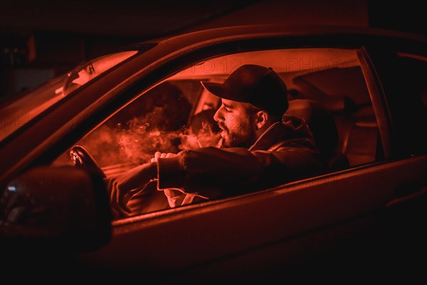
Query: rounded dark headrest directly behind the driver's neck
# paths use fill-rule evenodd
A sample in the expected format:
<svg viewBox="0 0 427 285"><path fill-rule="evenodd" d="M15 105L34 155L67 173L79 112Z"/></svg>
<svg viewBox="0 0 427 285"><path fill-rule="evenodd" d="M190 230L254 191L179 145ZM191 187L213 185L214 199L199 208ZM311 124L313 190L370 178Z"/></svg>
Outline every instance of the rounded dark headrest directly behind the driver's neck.
<svg viewBox="0 0 427 285"><path fill-rule="evenodd" d="M337 125L332 114L322 104L308 99L290 100L285 115L305 120L321 154L329 154L337 147Z"/></svg>

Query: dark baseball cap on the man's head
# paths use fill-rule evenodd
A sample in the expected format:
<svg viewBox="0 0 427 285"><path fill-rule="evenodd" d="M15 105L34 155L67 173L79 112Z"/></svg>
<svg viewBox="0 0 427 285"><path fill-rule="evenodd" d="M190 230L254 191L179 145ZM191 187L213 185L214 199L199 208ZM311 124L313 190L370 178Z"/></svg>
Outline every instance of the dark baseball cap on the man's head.
<svg viewBox="0 0 427 285"><path fill-rule="evenodd" d="M288 110L288 89L273 68L246 64L230 74L224 83L201 81L214 95L251 103L270 115L281 117Z"/></svg>

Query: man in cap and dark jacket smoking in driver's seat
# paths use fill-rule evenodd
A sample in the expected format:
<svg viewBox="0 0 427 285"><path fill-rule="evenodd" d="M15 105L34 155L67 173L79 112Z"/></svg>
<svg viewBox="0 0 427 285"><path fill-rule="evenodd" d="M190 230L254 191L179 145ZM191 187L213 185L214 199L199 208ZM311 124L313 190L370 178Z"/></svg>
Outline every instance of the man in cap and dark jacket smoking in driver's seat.
<svg viewBox="0 0 427 285"><path fill-rule="evenodd" d="M108 179L116 215L127 215L132 193L152 181L176 207L273 187L322 168L307 124L283 115L288 91L272 68L243 65L224 83L201 84L222 101L214 115L220 147L157 152L152 162Z"/></svg>

